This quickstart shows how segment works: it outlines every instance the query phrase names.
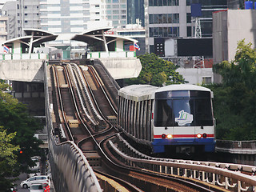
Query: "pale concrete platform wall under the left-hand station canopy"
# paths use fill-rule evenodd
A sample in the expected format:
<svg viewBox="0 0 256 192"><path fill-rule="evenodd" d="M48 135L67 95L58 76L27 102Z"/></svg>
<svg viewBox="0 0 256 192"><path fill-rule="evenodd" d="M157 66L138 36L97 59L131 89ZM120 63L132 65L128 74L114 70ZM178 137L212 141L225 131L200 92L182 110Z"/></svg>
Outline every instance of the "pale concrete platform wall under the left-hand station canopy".
<svg viewBox="0 0 256 192"><path fill-rule="evenodd" d="M0 61L0 79L18 82L43 82L45 60Z"/></svg>

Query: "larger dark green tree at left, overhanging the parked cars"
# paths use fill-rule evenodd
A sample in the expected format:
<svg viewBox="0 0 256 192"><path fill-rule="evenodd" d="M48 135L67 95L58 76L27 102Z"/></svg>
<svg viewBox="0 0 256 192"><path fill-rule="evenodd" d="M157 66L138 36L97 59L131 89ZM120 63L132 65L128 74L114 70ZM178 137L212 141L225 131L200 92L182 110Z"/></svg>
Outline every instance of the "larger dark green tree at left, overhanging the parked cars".
<svg viewBox="0 0 256 192"><path fill-rule="evenodd" d="M7 135L16 134L10 144L20 146L23 151L22 154L16 152L17 163L13 174L18 176L35 166L31 157L42 154L42 149L39 148L42 141L34 137L35 131L42 129L42 126L37 119L30 117L24 104L5 92L7 88L9 86L0 82L0 126L4 127Z"/></svg>

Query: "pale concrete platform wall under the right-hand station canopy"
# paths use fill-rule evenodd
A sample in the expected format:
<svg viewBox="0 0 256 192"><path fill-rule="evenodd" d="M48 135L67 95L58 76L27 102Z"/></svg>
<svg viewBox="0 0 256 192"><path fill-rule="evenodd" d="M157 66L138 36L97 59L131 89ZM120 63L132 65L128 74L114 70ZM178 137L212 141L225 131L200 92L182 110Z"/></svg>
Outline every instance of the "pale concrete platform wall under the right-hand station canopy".
<svg viewBox="0 0 256 192"><path fill-rule="evenodd" d="M137 78L142 70L138 58L99 58L114 79Z"/></svg>

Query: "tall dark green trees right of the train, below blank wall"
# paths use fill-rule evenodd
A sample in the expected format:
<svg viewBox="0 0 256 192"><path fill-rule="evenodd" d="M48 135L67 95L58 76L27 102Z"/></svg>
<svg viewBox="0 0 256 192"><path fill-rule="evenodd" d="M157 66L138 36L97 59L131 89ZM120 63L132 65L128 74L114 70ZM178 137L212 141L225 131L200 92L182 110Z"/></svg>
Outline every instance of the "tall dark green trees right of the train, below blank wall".
<svg viewBox="0 0 256 192"><path fill-rule="evenodd" d="M238 42L234 61L214 66L222 84L208 86L214 91L214 117L217 138L256 139L256 52L251 43Z"/></svg>

